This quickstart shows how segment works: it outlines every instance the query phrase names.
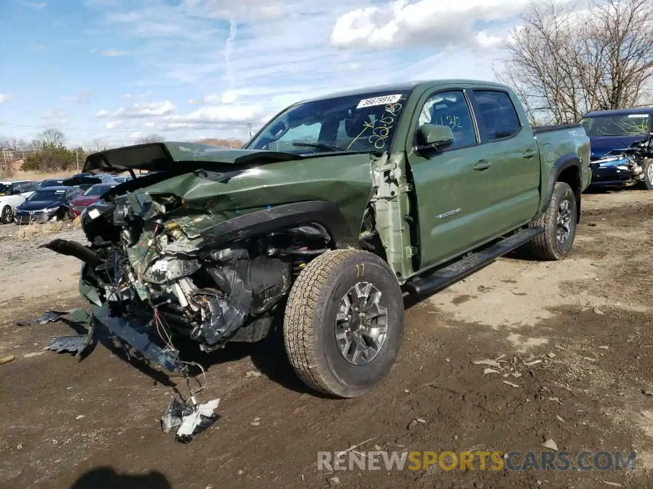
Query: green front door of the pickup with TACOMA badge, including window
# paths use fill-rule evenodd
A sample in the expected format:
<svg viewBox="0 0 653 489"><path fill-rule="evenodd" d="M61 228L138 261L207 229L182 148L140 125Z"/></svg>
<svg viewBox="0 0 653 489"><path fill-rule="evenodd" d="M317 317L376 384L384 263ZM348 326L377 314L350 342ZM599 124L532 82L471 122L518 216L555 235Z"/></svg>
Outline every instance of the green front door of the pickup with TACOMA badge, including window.
<svg viewBox="0 0 653 489"><path fill-rule="evenodd" d="M421 108L421 109L420 109ZM495 183L487 166L463 89L427 93L411 122L414 136L407 141L419 213L420 268L436 265L490 239L497 224L490 209ZM454 143L439 153L415 150L423 124L449 126Z"/></svg>

